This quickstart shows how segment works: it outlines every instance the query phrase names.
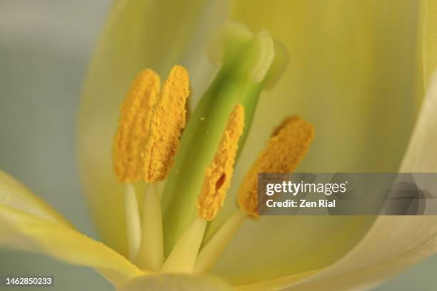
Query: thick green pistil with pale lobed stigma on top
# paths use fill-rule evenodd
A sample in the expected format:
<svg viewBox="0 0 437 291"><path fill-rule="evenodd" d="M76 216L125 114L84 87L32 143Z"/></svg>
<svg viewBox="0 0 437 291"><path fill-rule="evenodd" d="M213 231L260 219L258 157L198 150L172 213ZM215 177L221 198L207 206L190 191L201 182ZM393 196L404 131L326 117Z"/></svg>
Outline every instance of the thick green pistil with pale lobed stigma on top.
<svg viewBox="0 0 437 291"><path fill-rule="evenodd" d="M277 78L286 63L286 53L273 42L268 31L253 34L234 23L224 26L211 41L209 56L221 63L221 69L189 118L162 194L166 255L196 217L204 171L214 157L229 114L237 103L246 113L246 126L239 141L241 150L261 91Z"/></svg>

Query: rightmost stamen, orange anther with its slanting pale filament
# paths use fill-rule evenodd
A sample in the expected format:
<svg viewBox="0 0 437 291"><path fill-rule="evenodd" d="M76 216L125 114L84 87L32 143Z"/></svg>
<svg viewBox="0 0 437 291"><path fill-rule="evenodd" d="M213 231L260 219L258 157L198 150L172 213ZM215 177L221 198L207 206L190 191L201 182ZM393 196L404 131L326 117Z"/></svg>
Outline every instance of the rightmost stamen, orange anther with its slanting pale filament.
<svg viewBox="0 0 437 291"><path fill-rule="evenodd" d="M294 170L308 151L313 136L313 127L297 116L286 118L274 129L266 149L260 153L241 184L238 192L240 209L236 210L216 232L213 230L214 234L207 240L197 257L195 273L209 272L244 220L258 216L258 173L286 173Z"/></svg>

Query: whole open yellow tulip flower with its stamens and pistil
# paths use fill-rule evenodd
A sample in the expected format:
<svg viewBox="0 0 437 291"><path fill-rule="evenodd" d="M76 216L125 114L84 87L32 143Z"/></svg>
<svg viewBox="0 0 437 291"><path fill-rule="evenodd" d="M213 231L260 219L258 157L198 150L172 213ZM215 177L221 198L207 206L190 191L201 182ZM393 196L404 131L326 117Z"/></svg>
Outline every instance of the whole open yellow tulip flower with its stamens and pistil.
<svg viewBox="0 0 437 291"><path fill-rule="evenodd" d="M1 173L0 244L118 290L378 285L437 251L437 217L258 217L256 175L436 172L436 18L431 0L116 1L79 116L101 242Z"/></svg>

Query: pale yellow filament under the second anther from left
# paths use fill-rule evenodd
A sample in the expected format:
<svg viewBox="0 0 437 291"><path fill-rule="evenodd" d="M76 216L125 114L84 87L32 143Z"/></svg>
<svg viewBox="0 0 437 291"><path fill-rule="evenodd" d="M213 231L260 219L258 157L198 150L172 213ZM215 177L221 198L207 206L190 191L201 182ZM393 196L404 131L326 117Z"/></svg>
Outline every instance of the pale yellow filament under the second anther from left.
<svg viewBox="0 0 437 291"><path fill-rule="evenodd" d="M137 265L158 271L164 262L161 199L156 184L149 185L144 195L143 226Z"/></svg>

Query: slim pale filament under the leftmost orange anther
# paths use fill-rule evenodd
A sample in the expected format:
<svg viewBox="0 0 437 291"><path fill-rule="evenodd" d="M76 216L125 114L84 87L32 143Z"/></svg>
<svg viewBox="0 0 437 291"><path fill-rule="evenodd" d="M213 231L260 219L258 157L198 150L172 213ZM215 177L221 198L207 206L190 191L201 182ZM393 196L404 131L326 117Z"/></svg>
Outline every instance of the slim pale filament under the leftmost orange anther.
<svg viewBox="0 0 437 291"><path fill-rule="evenodd" d="M129 260L135 262L138 254L141 234L141 223L138 210L138 202L134 185L126 184L125 211L126 211L126 232L128 240Z"/></svg>

